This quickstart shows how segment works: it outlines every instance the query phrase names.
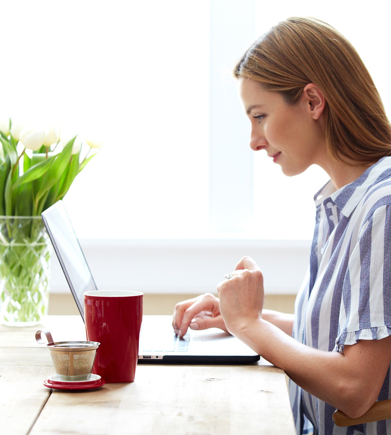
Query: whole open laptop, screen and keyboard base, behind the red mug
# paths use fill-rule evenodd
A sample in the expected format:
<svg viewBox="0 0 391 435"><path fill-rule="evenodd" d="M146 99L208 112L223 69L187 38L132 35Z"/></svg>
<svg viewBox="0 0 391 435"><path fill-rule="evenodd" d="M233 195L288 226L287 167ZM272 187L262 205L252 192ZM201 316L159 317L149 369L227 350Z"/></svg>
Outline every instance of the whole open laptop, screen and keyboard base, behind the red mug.
<svg viewBox="0 0 391 435"><path fill-rule="evenodd" d="M42 213L42 220L60 261L70 291L84 321L86 291L98 290L62 201ZM218 328L174 334L170 316L144 316L138 362L236 364L258 361L260 356Z"/></svg>

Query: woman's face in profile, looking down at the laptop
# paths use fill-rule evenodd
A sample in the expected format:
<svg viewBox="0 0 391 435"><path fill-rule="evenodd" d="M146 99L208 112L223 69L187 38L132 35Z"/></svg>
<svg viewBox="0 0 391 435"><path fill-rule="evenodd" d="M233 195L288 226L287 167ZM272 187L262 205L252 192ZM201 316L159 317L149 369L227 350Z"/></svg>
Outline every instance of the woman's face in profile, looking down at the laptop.
<svg viewBox="0 0 391 435"><path fill-rule="evenodd" d="M285 175L301 174L311 164L327 159L323 123L314 119L310 98L302 94L294 106L281 94L265 90L259 82L240 77L239 91L251 121L250 147L265 150Z"/></svg>

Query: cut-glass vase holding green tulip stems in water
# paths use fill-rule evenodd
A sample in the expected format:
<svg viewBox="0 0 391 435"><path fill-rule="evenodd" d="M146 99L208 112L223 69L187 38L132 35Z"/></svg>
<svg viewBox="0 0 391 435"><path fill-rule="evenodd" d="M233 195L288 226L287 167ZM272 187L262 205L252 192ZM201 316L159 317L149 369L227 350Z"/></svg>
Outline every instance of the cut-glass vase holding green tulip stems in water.
<svg viewBox="0 0 391 435"><path fill-rule="evenodd" d="M42 322L49 307L52 251L40 216L0 216L0 322Z"/></svg>

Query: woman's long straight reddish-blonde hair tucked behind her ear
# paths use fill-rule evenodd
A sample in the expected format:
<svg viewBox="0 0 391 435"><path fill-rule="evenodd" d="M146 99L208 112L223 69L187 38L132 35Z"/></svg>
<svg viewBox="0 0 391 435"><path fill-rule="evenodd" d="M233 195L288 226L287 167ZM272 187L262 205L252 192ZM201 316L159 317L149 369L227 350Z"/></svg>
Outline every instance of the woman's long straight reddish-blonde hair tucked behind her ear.
<svg viewBox="0 0 391 435"><path fill-rule="evenodd" d="M298 102L308 83L319 87L327 149L338 161L370 164L391 155L391 125L378 90L351 43L327 23L281 21L246 51L234 75L259 81L288 104Z"/></svg>

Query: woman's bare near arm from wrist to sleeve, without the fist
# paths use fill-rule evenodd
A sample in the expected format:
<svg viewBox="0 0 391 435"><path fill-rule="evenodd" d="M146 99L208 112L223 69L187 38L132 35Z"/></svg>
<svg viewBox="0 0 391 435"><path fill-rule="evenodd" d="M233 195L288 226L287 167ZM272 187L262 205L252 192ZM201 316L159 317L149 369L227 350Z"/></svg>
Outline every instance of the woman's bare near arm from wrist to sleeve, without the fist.
<svg viewBox="0 0 391 435"><path fill-rule="evenodd" d="M230 332L297 385L351 417L362 415L377 400L389 365L391 337L345 346L341 354L303 345L264 318Z"/></svg>

